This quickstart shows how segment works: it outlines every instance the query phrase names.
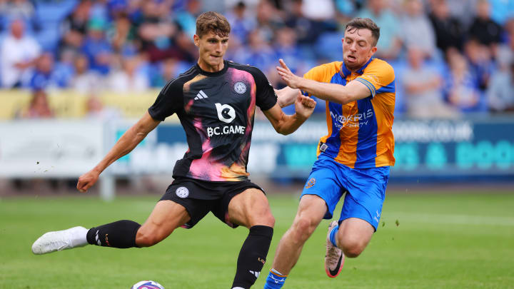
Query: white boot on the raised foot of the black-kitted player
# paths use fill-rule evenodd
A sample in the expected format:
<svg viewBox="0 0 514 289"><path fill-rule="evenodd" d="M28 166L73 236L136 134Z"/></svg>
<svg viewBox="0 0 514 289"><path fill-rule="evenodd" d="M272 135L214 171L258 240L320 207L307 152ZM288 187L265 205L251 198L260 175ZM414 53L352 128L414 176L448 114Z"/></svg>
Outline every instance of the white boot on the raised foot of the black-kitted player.
<svg viewBox="0 0 514 289"><path fill-rule="evenodd" d="M51 253L87 245L88 229L84 227L74 227L67 230L48 232L39 237L32 244L32 253L36 255Z"/></svg>

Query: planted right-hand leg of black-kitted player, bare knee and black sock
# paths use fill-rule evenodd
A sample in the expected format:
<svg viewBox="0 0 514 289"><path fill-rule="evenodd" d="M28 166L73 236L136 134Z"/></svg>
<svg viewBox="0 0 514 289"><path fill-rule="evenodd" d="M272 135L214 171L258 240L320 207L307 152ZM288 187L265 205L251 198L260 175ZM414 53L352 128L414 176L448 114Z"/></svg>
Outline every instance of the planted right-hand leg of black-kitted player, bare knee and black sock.
<svg viewBox="0 0 514 289"><path fill-rule="evenodd" d="M261 273L268 255L275 218L261 190L248 188L228 204L228 220L250 229L237 260L231 288L250 288Z"/></svg>

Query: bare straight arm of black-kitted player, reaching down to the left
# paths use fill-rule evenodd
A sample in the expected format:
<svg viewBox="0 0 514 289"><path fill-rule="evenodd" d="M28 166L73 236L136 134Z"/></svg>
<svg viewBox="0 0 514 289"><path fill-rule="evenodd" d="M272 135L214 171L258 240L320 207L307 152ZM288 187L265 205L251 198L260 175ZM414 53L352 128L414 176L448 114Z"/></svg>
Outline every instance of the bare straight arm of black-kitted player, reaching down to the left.
<svg viewBox="0 0 514 289"><path fill-rule="evenodd" d="M107 153L98 165L96 165L91 171L80 176L79 182L77 183L77 190L84 193L91 188L91 186L98 181L102 171L117 159L125 156L127 153L130 153L133 148L135 148L138 143L141 143L143 138L145 138L150 131L153 131L153 128L156 128L160 122L161 121L153 119L148 111L146 111L143 117L139 119L136 124L131 126L131 128L129 128L121 138L119 138L116 144L111 148L111 151Z"/></svg>

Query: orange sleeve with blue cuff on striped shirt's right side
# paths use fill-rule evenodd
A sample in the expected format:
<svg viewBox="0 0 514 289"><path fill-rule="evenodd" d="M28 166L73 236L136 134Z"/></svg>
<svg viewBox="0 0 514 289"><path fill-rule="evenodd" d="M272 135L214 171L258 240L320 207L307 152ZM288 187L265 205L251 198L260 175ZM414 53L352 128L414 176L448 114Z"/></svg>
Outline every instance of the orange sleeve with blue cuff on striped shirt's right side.
<svg viewBox="0 0 514 289"><path fill-rule="evenodd" d="M385 61L373 62L364 69L363 75L355 78L355 81L367 86L371 92L371 97L375 97L376 93L395 92L393 67Z"/></svg>

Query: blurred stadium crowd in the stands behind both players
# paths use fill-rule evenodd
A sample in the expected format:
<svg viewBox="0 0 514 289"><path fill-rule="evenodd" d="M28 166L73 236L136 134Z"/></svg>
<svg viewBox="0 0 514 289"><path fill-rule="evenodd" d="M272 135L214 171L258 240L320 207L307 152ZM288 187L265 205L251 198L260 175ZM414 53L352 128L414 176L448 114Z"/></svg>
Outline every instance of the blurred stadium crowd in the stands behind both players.
<svg viewBox="0 0 514 289"><path fill-rule="evenodd" d="M276 88L280 58L297 74L341 61L346 21L360 16L381 27L376 57L395 69L397 116L514 111L514 0L0 0L0 88L34 91L26 117L52 115L54 88L161 88L196 62L203 11L231 23L226 59Z"/></svg>

